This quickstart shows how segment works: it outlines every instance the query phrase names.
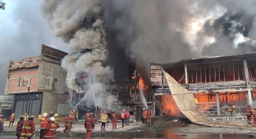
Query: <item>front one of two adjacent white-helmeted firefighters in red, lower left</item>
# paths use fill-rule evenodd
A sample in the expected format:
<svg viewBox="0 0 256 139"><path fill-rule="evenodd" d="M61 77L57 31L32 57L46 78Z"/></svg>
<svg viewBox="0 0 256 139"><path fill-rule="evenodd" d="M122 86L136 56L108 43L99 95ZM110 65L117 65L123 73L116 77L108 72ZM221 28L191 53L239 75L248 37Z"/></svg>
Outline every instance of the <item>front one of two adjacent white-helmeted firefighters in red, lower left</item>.
<svg viewBox="0 0 256 139"><path fill-rule="evenodd" d="M50 117L49 119L50 121L44 129L44 139L54 139L56 134L55 130L60 127L58 123L55 123L54 117Z"/></svg>

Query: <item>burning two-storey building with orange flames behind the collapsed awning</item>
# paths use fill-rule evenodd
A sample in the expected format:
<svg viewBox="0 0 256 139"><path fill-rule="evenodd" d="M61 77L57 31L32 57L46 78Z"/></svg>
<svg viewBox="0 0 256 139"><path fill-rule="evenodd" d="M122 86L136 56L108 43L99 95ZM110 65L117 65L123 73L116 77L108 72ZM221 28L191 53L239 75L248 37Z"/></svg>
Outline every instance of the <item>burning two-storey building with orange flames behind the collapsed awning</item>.
<svg viewBox="0 0 256 139"><path fill-rule="evenodd" d="M183 88L193 92L198 108L205 114L220 115L222 106L256 106L255 62L256 52L185 59L168 64L151 63L155 115L181 115L162 69Z"/></svg>

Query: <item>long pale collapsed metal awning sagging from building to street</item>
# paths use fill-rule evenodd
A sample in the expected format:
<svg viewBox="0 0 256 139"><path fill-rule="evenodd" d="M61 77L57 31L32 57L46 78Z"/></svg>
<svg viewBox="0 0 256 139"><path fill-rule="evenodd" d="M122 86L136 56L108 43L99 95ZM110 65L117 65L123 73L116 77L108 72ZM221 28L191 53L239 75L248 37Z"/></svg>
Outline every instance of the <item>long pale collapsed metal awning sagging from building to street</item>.
<svg viewBox="0 0 256 139"><path fill-rule="evenodd" d="M178 82L175 81L175 79L172 78L171 75L169 75L167 72L165 72L164 70L163 72L168 82L172 97L174 98L174 101L176 102L179 110L191 122L209 127L239 128L248 130L256 129L256 127L253 127L253 125L248 125L244 123L219 122L209 119L197 108L193 93L185 88L182 88L178 84Z"/></svg>

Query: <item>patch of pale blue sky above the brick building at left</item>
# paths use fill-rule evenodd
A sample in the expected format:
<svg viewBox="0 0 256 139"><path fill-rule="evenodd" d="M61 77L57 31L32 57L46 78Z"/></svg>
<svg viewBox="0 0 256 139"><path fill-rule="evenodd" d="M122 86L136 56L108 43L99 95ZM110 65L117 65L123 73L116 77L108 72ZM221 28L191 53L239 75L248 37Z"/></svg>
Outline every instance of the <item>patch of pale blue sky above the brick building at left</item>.
<svg viewBox="0 0 256 139"><path fill-rule="evenodd" d="M38 56L41 44L68 51L41 15L41 0L3 0L0 10L0 95L4 94L10 60Z"/></svg>

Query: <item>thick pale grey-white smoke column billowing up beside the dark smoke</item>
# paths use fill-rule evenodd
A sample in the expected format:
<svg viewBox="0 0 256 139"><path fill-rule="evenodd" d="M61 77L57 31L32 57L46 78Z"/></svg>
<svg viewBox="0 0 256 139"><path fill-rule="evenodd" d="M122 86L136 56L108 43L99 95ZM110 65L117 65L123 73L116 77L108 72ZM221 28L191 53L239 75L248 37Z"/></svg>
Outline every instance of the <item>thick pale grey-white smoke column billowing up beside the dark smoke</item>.
<svg viewBox="0 0 256 139"><path fill-rule="evenodd" d="M87 107L95 104L92 89L95 92L97 106L112 104L112 99L103 94L99 82L113 79L114 72L105 65L108 59L106 34L100 17L101 0L44 0L43 16L56 36L68 43L70 52L62 60L61 66L67 70L67 87L84 91L87 95ZM83 28L83 21L91 24ZM77 85L79 74L86 74L84 87ZM88 81L92 82L93 88ZM83 90L81 90L83 89Z"/></svg>

